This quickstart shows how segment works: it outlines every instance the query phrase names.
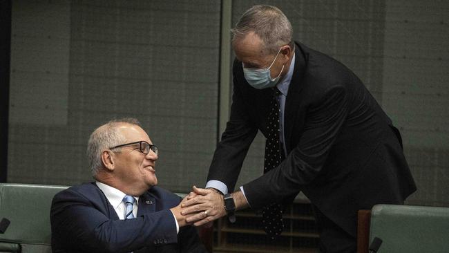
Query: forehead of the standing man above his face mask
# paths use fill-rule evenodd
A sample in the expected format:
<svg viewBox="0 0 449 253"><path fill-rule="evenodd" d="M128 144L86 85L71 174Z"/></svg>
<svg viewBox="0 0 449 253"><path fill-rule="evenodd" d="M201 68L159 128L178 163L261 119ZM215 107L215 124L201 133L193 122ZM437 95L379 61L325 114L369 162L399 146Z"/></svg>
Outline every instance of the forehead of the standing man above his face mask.
<svg viewBox="0 0 449 253"><path fill-rule="evenodd" d="M266 64L269 55L263 48L262 40L254 32L234 39L233 50L240 62L249 65Z"/></svg>

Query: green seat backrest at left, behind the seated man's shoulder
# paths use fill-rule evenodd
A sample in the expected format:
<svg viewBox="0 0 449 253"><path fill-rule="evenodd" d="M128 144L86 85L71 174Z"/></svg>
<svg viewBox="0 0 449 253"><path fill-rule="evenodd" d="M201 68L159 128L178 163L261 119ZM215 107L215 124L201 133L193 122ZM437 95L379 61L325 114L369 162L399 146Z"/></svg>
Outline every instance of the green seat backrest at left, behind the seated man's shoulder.
<svg viewBox="0 0 449 253"><path fill-rule="evenodd" d="M53 196L66 188L0 184L0 219L11 222L0 234L0 252L51 252L50 206Z"/></svg>

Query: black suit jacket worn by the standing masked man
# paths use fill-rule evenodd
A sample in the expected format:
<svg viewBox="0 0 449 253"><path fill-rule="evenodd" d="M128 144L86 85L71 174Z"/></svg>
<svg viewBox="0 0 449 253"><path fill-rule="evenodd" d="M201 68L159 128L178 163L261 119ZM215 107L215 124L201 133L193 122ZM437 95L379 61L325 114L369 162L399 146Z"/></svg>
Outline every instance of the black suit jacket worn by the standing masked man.
<svg viewBox="0 0 449 253"><path fill-rule="evenodd" d="M359 209L403 203L416 190L399 131L361 80L335 59L296 44L285 102L287 157L244 185L254 209L303 193L327 218L356 235ZM252 88L233 64L231 116L214 153L208 180L235 187L257 131L267 136L269 89ZM261 168L262 169L262 168Z"/></svg>

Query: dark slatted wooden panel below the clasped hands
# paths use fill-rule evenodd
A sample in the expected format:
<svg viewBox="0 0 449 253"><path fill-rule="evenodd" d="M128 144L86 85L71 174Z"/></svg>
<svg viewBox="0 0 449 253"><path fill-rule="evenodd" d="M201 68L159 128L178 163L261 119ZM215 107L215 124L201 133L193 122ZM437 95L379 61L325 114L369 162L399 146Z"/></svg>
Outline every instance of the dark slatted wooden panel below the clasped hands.
<svg viewBox="0 0 449 253"><path fill-rule="evenodd" d="M283 214L285 228L276 241L266 241L260 228L260 214L239 210L236 223L220 218L214 229L214 253L309 253L318 250L319 234L309 203L288 205Z"/></svg>

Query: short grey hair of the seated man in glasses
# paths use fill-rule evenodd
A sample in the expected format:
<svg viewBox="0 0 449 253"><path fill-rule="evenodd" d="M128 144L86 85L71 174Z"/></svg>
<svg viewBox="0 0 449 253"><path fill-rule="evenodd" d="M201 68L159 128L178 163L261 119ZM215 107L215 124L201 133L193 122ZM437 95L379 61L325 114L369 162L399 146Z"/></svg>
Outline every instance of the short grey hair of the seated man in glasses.
<svg viewBox="0 0 449 253"><path fill-rule="evenodd" d="M124 136L118 131L118 127L124 123L134 124L140 127L140 122L137 119L122 118L119 120L111 120L90 134L86 154L92 176L95 176L103 167L102 152L106 149L111 149L111 147L123 144L125 141ZM120 148L117 151L120 151Z"/></svg>

